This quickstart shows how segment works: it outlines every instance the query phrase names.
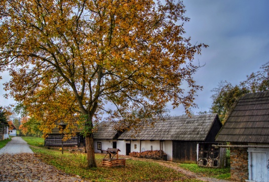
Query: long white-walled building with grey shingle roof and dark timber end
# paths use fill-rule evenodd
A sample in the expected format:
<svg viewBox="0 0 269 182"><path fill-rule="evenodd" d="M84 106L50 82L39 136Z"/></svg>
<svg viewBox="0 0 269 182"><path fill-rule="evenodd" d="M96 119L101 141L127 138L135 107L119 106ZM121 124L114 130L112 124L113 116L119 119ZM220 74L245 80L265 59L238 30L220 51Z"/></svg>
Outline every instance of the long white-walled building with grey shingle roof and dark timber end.
<svg viewBox="0 0 269 182"><path fill-rule="evenodd" d="M125 131L118 140L125 141L127 155L133 151L163 150L167 159L174 162L222 167L220 149L212 147L221 127L217 114L174 116L158 120L154 127L147 126L139 133ZM124 150L123 145L119 148Z"/></svg>

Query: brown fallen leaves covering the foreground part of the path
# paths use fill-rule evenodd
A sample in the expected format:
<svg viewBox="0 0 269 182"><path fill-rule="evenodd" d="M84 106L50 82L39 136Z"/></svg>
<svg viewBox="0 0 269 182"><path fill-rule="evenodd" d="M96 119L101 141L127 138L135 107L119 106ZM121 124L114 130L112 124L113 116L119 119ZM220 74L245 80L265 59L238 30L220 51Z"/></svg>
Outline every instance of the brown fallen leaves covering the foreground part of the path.
<svg viewBox="0 0 269 182"><path fill-rule="evenodd" d="M0 182L83 182L41 162L34 154L1 154Z"/></svg>

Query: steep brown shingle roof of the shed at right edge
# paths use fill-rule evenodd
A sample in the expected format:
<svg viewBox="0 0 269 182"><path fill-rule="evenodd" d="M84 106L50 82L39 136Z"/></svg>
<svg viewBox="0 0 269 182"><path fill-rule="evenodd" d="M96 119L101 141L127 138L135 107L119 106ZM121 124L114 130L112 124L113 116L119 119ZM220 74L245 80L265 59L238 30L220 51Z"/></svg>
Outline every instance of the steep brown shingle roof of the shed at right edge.
<svg viewBox="0 0 269 182"><path fill-rule="evenodd" d="M269 92L242 96L216 141L269 143Z"/></svg>

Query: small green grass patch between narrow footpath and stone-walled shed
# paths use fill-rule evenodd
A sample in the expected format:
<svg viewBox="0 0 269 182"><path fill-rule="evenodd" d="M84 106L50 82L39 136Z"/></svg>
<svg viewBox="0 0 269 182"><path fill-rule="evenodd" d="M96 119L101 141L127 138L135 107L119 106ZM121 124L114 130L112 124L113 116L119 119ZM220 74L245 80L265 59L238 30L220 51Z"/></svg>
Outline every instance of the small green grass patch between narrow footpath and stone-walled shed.
<svg viewBox="0 0 269 182"><path fill-rule="evenodd" d="M197 164L177 164L179 167L183 169L190 170L193 173L211 177L211 178L217 178L222 180L230 180L231 179L231 173L230 173L230 167L226 168L206 168L206 167L200 167Z"/></svg>

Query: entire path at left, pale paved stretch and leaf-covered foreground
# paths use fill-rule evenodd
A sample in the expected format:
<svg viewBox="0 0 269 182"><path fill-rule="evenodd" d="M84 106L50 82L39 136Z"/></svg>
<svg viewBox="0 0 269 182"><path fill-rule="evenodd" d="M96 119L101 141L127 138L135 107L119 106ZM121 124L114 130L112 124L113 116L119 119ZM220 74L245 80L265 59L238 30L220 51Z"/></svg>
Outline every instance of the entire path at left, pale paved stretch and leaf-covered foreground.
<svg viewBox="0 0 269 182"><path fill-rule="evenodd" d="M21 137L0 149L0 182L83 182L41 162Z"/></svg>

